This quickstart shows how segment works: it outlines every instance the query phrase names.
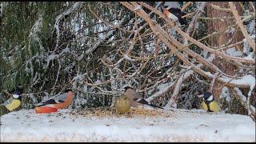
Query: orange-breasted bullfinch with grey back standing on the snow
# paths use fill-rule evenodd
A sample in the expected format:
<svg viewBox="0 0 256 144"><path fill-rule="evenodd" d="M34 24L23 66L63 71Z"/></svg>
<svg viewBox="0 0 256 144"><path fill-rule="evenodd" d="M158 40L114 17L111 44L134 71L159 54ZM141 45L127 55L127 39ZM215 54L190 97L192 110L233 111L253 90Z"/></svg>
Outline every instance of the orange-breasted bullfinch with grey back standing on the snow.
<svg viewBox="0 0 256 144"><path fill-rule="evenodd" d="M70 106L72 99L74 97L74 92L72 90L65 90L64 94L59 94L55 97L48 98L44 102L38 103L36 109L41 106L53 107L55 109L64 109Z"/></svg>

